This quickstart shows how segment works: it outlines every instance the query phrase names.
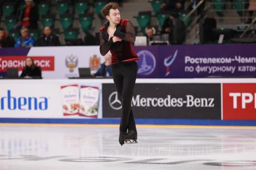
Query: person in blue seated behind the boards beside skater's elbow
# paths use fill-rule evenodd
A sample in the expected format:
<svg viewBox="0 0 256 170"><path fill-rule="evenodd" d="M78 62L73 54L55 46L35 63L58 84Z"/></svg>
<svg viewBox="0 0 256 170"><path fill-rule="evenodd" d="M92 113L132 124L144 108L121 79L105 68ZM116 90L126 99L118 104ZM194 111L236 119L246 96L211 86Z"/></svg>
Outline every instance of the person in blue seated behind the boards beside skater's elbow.
<svg viewBox="0 0 256 170"><path fill-rule="evenodd" d="M100 65L99 70L96 72L96 74L93 74L93 76L112 76L111 54L106 54L105 62Z"/></svg>

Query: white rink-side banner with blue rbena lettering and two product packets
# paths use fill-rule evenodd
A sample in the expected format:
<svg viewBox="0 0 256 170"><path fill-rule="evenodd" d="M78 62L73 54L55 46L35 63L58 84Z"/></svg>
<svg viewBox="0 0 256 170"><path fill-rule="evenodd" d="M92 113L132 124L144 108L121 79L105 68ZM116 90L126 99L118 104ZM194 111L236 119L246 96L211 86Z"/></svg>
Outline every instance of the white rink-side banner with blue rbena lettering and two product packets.
<svg viewBox="0 0 256 170"><path fill-rule="evenodd" d="M88 80L2 80L0 118L101 118L102 84Z"/></svg>

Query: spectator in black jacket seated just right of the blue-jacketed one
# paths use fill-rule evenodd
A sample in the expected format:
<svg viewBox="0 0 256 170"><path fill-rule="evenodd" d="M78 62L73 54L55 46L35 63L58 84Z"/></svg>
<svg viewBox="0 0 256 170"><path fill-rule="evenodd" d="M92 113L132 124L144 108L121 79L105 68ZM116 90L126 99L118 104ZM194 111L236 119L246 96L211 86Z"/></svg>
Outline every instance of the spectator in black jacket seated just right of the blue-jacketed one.
<svg viewBox="0 0 256 170"><path fill-rule="evenodd" d="M44 28L44 34L37 40L37 46L59 46L59 37L52 34L52 29L49 26Z"/></svg>

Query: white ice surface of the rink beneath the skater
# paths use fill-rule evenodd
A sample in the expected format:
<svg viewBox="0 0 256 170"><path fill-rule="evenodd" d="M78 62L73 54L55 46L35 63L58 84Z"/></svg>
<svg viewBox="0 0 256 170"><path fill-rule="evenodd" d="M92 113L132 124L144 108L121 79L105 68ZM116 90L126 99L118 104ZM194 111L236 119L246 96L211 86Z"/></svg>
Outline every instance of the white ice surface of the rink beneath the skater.
<svg viewBox="0 0 256 170"><path fill-rule="evenodd" d="M0 170L256 169L256 127L138 126L138 142L121 147L118 126L2 124Z"/></svg>

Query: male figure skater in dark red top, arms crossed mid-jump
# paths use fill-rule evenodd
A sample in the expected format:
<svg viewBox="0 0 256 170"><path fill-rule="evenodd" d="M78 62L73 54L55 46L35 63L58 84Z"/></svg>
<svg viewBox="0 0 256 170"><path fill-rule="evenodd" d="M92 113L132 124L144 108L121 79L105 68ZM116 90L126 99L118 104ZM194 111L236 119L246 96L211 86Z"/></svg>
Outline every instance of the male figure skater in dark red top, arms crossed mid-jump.
<svg viewBox="0 0 256 170"><path fill-rule="evenodd" d="M139 59L132 48L135 30L132 22L121 19L118 4L110 2L102 8L102 15L108 23L100 29L100 53L105 56L111 51L112 77L121 99L122 114L119 142L137 142L137 130L133 117L131 101L135 86Z"/></svg>

